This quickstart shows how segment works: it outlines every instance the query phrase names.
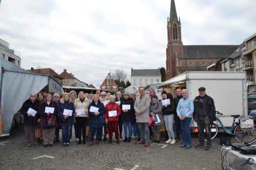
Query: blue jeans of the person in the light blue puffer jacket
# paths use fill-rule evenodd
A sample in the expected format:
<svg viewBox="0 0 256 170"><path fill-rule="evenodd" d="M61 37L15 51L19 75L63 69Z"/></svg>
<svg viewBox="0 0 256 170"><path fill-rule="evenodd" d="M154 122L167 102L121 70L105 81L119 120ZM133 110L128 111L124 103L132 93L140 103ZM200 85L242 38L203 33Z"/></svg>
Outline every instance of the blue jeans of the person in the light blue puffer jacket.
<svg viewBox="0 0 256 170"><path fill-rule="evenodd" d="M182 130L182 143L191 145L191 135L189 132L190 122L191 122L191 117L186 117L184 120L180 120L180 125Z"/></svg>

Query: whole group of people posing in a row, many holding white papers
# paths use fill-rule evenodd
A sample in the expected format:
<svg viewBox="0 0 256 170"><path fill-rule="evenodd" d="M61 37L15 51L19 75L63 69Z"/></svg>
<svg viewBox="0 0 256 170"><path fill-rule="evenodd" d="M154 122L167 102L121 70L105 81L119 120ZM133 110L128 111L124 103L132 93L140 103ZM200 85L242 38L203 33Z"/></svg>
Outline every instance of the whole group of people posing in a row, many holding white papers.
<svg viewBox="0 0 256 170"><path fill-rule="evenodd" d="M144 87L139 88L136 94L121 93L116 95L110 92L97 90L96 94L78 93L75 91L63 93L62 98L55 93L47 91L37 95L31 93L29 99L24 102L20 112L24 115L25 140L27 147L37 145L40 139L35 139L35 129L40 124L42 139L45 147L53 146L59 141L59 129L62 129L62 145L69 146L74 126L75 137L78 144L85 144L89 138L92 146L96 133L96 144L99 144L104 131L103 141L109 134L109 143L113 143L115 133L116 143L131 142L132 134L137 137L135 144L144 144L148 147L153 142L160 142L162 126L166 130L166 143L178 144L181 148L191 148L191 136L189 125L193 116L199 127L200 143L196 148L205 147L204 129L206 131L207 144L205 150L211 149L210 123L215 120L214 100L205 93L205 88L200 87L199 96L188 98L186 89L176 89L176 98L171 93L162 92L162 99L169 100L168 104L162 104L154 89L150 94L145 94ZM32 112L31 112L32 110ZM34 111L34 114L33 114ZM176 138L173 124L176 125ZM90 129L90 132L89 132ZM103 129L103 131L102 131ZM182 141L180 137L182 132Z"/></svg>

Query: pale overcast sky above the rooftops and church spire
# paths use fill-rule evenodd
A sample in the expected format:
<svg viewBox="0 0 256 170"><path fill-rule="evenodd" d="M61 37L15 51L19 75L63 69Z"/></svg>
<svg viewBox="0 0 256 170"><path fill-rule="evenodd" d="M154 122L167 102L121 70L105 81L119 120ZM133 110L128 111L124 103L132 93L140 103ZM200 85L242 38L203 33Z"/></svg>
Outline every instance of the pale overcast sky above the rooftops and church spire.
<svg viewBox="0 0 256 170"><path fill-rule="evenodd" d="M256 1L176 0L184 45L241 44ZM22 68L63 69L95 87L114 69L165 67L170 0L2 0L0 38Z"/></svg>

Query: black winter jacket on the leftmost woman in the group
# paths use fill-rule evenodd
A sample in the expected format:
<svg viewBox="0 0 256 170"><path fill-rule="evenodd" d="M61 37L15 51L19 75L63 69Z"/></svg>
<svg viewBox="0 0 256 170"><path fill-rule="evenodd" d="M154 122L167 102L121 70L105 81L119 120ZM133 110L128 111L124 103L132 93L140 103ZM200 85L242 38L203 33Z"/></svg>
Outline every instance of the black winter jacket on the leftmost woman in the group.
<svg viewBox="0 0 256 170"><path fill-rule="evenodd" d="M37 125L37 120L38 118L40 118L40 114L38 113L38 108L40 105L40 101L38 101L37 99L35 100L35 103L33 104L30 99L26 100L23 105L22 108L20 109L20 113L22 113L24 115L24 125L25 126L36 126ZM37 113L35 114L35 116L28 116L27 111L29 110L29 108L37 111Z"/></svg>

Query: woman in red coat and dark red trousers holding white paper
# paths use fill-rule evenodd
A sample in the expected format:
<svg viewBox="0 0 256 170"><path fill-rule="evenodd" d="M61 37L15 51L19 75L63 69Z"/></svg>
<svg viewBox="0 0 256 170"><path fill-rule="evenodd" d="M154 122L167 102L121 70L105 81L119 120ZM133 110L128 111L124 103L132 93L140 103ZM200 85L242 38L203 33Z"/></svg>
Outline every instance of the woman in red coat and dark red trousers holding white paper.
<svg viewBox="0 0 256 170"><path fill-rule="evenodd" d="M119 132L118 132L118 120L121 115L121 109L117 103L115 103L115 96L110 96L110 103L105 106L105 121L108 124L109 130L109 143L112 143L113 132L115 132L116 143L119 143ZM110 111L116 111L116 115L112 116Z"/></svg>

